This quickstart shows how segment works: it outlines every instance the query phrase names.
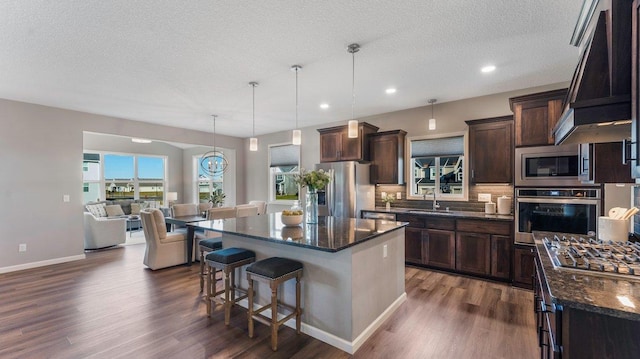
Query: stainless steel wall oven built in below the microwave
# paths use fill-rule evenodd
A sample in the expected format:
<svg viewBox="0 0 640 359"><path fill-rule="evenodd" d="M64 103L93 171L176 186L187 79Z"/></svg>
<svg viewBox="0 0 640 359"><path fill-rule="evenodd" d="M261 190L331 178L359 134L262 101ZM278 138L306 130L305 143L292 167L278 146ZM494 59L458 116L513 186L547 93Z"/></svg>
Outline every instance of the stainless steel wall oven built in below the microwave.
<svg viewBox="0 0 640 359"><path fill-rule="evenodd" d="M516 188L518 244L533 244L533 231L595 235L600 216L600 189Z"/></svg>

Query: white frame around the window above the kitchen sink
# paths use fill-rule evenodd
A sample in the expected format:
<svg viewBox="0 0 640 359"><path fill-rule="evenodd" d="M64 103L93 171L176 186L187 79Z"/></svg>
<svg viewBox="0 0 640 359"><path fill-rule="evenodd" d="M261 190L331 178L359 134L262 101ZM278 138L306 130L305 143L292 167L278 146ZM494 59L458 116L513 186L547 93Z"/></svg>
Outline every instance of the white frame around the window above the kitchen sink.
<svg viewBox="0 0 640 359"><path fill-rule="evenodd" d="M448 138L448 137L463 137L463 160L462 160L462 168L463 168L463 177L462 177L462 194L449 194L449 193L440 193L440 191L436 191L436 199L443 201L467 201L469 198L469 143L468 143L468 131L460 131L460 132L451 132L445 134L438 135L421 135L421 136L411 136L407 137L407 141L405 142L405 163L407 164L405 168L405 178L407 179L406 186L406 198L408 200L424 200L425 197L423 195L414 194L415 190L415 178L413 171L413 158L411 156L411 141L420 141L420 140L435 140L440 138ZM439 164L438 164L439 166ZM436 176L438 177L438 176ZM436 188L439 187L439 178L436 180ZM426 197L427 200L433 199L432 195Z"/></svg>

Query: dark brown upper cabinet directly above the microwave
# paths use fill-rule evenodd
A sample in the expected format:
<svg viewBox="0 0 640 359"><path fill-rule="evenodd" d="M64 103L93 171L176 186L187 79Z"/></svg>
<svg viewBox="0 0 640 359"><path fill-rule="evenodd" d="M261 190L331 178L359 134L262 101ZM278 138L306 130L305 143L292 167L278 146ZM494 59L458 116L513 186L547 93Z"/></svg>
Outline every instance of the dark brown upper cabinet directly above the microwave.
<svg viewBox="0 0 640 359"><path fill-rule="evenodd" d="M553 130L562 115L567 89L512 97L509 106L515 124L515 146L555 144Z"/></svg>

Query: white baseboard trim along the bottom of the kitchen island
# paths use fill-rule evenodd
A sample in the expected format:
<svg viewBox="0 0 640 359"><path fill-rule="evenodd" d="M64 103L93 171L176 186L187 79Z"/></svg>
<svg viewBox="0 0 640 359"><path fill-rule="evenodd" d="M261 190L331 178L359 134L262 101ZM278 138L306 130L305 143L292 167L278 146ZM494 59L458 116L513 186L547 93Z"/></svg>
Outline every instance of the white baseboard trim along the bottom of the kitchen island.
<svg viewBox="0 0 640 359"><path fill-rule="evenodd" d="M405 293L402 293L393 303L391 303L391 305L387 307L387 309L385 309L385 311L382 312L378 316L378 318L376 318L376 320L374 320L365 330L362 331L362 333L360 333L360 335L358 335L358 337L355 340L351 342L348 340L339 338L331 333L327 333L324 330L318 329L306 323L302 323L300 325L300 331L302 331L303 333L315 339L318 339L342 351L345 351L348 354L354 354L362 346L362 344L364 344L364 342L366 342L367 339L369 339L369 337L373 335L373 333L375 333L375 331L378 328L380 328L380 326L385 322L385 320L387 320L396 311L396 309L398 309L402 305L402 303L404 303L406 300L407 300L407 293L405 292ZM243 299L240 302L238 302L238 304L244 308L247 308L249 303L246 299ZM256 308L258 308L257 305L256 305ZM268 317L271 316L271 309L266 309L263 312L263 314ZM278 317L279 319L282 319L284 318L284 315L278 314ZM286 325L289 328L295 329L296 328L295 319L293 318L289 319L284 323L284 325Z"/></svg>

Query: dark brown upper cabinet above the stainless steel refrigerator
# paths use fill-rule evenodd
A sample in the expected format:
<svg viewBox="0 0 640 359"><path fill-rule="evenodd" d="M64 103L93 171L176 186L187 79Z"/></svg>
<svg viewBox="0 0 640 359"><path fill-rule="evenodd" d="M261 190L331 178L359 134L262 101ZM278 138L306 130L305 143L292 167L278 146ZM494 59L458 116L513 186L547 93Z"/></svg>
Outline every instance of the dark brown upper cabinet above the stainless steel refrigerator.
<svg viewBox="0 0 640 359"><path fill-rule="evenodd" d="M360 122L358 137L349 138L348 127L336 126L318 129L320 132L320 162L369 161L368 137L378 127Z"/></svg>

